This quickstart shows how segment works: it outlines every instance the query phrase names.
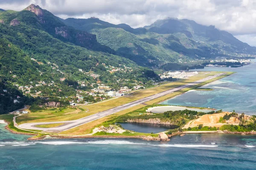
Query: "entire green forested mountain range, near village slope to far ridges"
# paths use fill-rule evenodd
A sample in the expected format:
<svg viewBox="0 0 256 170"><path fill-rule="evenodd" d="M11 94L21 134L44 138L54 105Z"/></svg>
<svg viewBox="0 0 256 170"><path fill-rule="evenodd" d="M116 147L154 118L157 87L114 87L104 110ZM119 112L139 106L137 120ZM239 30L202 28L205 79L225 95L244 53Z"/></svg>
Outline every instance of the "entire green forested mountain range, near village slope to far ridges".
<svg viewBox="0 0 256 170"><path fill-rule="evenodd" d="M195 68L255 51L226 31L191 20L131 28L94 17L63 20L33 4L0 9L0 114L24 104L97 102L108 92L151 87L160 81L153 68Z"/></svg>

